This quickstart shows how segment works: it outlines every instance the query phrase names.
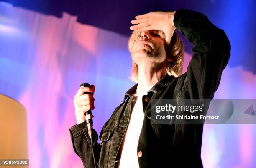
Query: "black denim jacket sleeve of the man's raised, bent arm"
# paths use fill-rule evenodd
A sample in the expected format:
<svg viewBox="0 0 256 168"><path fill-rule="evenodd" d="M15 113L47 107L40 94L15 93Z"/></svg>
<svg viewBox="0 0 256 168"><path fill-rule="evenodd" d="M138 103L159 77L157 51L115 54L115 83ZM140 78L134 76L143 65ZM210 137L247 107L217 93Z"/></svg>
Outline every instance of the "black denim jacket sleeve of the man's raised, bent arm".
<svg viewBox="0 0 256 168"><path fill-rule="evenodd" d="M187 72L181 75L177 99L213 99L230 58L228 37L205 15L191 10L177 10L174 26L194 45Z"/></svg>

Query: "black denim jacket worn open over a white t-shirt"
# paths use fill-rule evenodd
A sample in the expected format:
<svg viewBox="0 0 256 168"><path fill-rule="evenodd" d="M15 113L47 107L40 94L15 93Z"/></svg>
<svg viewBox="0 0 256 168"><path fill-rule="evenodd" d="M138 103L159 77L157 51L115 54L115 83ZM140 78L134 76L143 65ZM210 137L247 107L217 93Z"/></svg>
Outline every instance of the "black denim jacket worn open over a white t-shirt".
<svg viewBox="0 0 256 168"><path fill-rule="evenodd" d="M201 168L203 125L151 124L151 99L213 99L223 69L230 58L230 42L225 32L208 18L195 11L180 9L174 15L174 26L191 42L193 56L187 72L179 77L164 76L142 97L144 120L137 152L140 168L196 167ZM121 104L98 135L92 132L97 167L115 168L120 144L128 126L131 101L137 84L129 89ZM93 168L92 144L86 122L69 129L75 153L84 168Z"/></svg>

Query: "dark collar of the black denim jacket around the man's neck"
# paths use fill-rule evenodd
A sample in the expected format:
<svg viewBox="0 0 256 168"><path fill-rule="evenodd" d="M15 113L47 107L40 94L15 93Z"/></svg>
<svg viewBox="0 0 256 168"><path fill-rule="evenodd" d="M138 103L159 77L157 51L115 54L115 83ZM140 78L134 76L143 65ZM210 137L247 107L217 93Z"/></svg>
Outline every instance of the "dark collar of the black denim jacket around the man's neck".
<svg viewBox="0 0 256 168"><path fill-rule="evenodd" d="M158 91L161 91L163 89L163 87L170 81L172 81L175 77L174 76L170 76L170 75L165 75L164 77L162 77L162 79L160 79L159 82L157 82L148 92L147 94L149 94L149 92L154 92L157 93ZM121 103L123 101L125 101L127 99L127 97L131 97L131 95L133 93L135 93L136 89L137 89L138 83L136 83L134 86L132 86L128 91L125 92L124 95L124 99L121 101Z"/></svg>

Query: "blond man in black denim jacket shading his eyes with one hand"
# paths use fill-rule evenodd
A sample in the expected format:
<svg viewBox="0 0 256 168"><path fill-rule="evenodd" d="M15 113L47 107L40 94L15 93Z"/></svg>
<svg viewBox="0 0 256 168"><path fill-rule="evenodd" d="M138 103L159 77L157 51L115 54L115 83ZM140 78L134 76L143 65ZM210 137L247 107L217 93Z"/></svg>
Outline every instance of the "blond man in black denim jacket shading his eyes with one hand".
<svg viewBox="0 0 256 168"><path fill-rule="evenodd" d="M125 93L103 126L100 144L93 130L96 165L203 167L203 125L151 124L151 99L212 99L230 57L228 37L205 15L191 10L150 12L132 23L137 25L130 27L135 30L129 39L131 79L138 83ZM194 45L187 72L182 75L183 46L176 28ZM172 47L174 44L177 46ZM84 113L94 109L94 89L81 88L75 95L77 124L70 128L74 151L87 168L93 167L93 157Z"/></svg>

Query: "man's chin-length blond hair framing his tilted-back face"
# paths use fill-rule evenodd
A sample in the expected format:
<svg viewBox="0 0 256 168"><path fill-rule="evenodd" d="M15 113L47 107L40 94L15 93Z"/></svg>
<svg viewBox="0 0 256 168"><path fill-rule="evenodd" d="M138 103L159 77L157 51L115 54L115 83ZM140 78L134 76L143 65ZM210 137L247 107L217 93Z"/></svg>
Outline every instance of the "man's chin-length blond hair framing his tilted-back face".
<svg viewBox="0 0 256 168"><path fill-rule="evenodd" d="M165 39L164 32L161 30L150 30L152 34L158 35L162 39ZM132 57L133 44L138 38L139 32L133 31L131 37L128 40L128 47ZM166 57L174 58L174 62L168 61L165 74L173 75L174 77L178 77L182 74L182 63L184 58L184 46L179 38L177 32L174 32L170 44L165 42L164 48L166 51ZM131 76L129 79L133 82L138 82L138 65L133 61Z"/></svg>

